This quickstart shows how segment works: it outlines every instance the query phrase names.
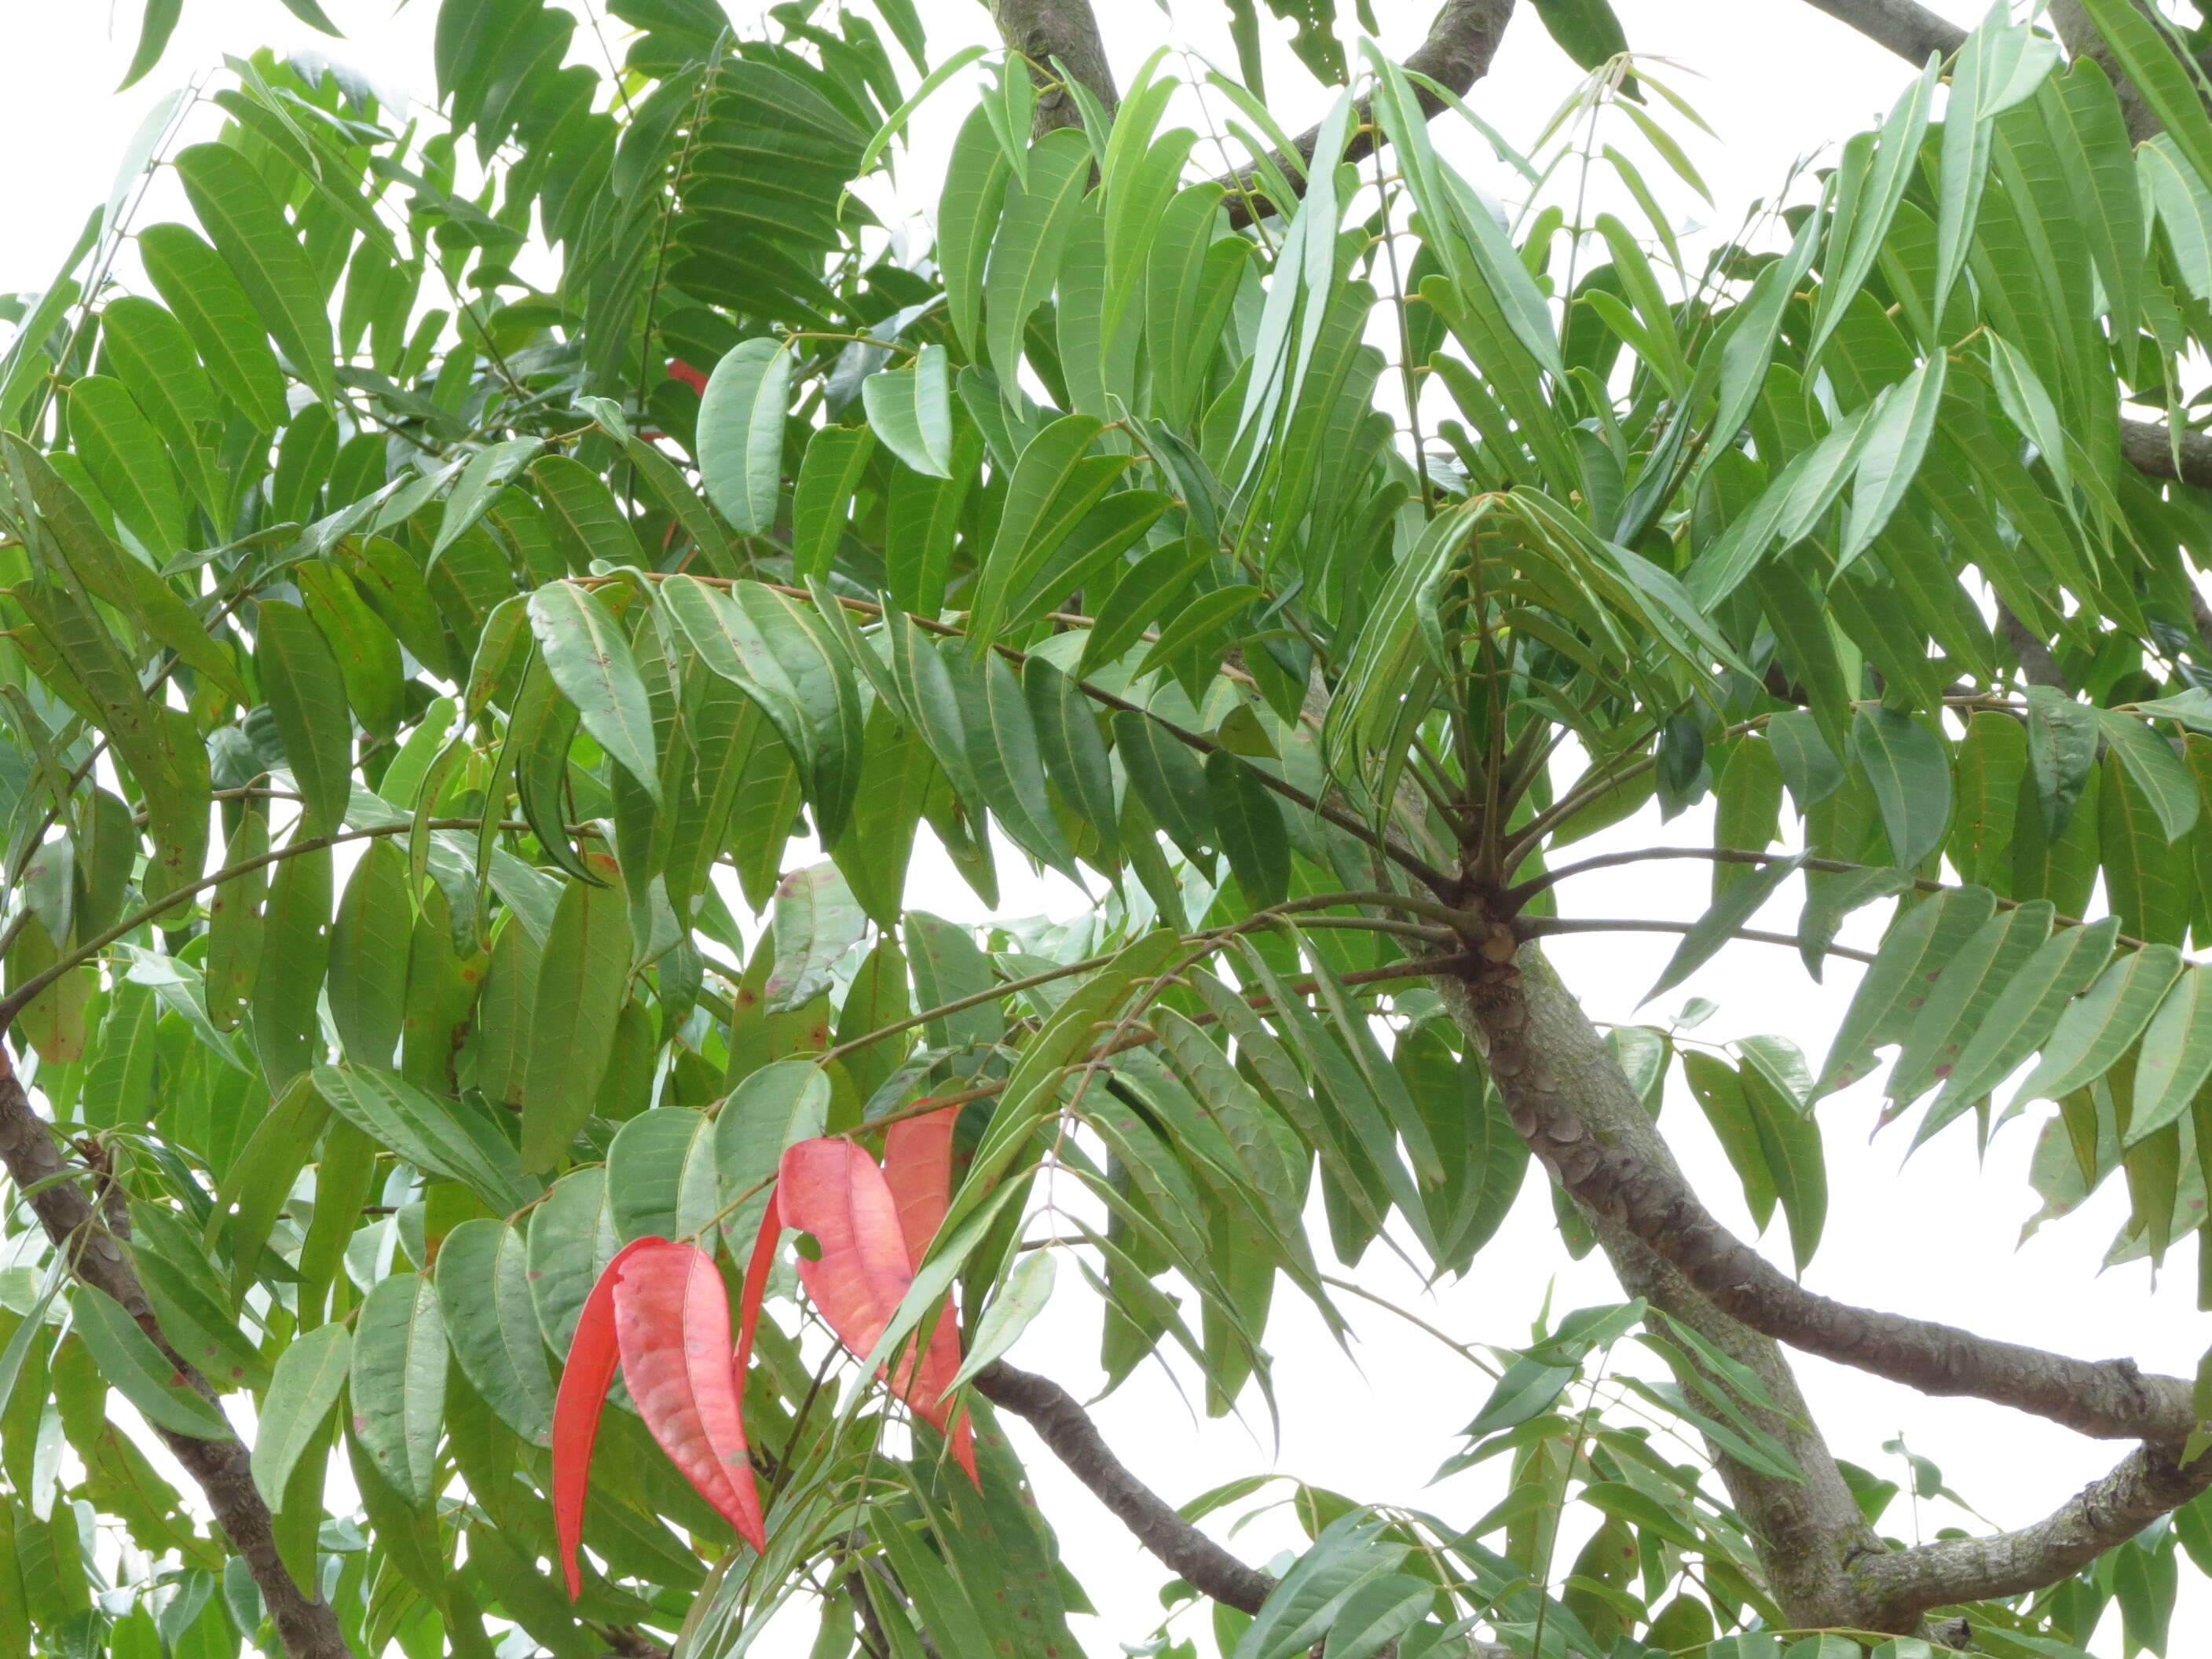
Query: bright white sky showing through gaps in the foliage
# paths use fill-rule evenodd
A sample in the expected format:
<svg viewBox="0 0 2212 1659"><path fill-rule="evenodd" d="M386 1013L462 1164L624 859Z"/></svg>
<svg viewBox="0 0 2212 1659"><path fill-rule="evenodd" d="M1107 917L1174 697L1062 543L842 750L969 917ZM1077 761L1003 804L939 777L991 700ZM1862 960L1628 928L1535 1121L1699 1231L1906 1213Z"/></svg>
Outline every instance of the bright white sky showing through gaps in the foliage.
<svg viewBox="0 0 2212 1659"><path fill-rule="evenodd" d="M115 164L142 113L192 69L217 64L221 51L312 46L365 71L380 86L429 95L429 29L434 0L389 11L383 0L327 0L330 13L349 29L345 42L327 42L301 27L276 0L186 0L184 24L164 66L126 95L111 95L131 58L137 27L135 0L108 4L0 7L0 64L7 66L0 95L0 155L13 159L0 175L0 292L42 288L62 252L75 239L84 212L106 197ZM1973 4L1947 0L1947 15L1971 22ZM739 15L750 11L737 9ZM1190 33L1172 33L1170 20L1141 0L1102 7L1117 71L1128 73L1161 40L1197 44L1230 64L1232 55L1217 27L1217 0L1181 0L1177 18ZM1402 53L1425 24L1429 7L1378 0L1387 24L1385 44ZM1524 11L1531 11L1524 7ZM1896 97L1907 66L1840 24L1787 0L1619 0L1628 40L1637 51L1677 60L1672 84L1690 95L1719 142L1690 146L1705 173L1719 223L1734 223L1750 197L1770 192L1792 157L1814 153L1871 122ZM949 53L967 40L984 40L987 13L971 0L922 0L922 13L938 31L933 46ZM613 31L619 42L619 24ZM617 44L619 51L619 44ZM1287 53L1272 60L1272 86L1290 128L1318 115L1321 95L1303 88ZM1688 73L1686 73L1688 71ZM1703 77L1703 80L1699 80ZM1542 122L1573 84L1573 71L1551 46L1533 15L1515 20L1509 44L1491 77L1473 95L1475 106L1506 137L1533 139ZM916 153L907 164L914 179L933 179L936 146L962 108L960 86L938 95L916 126ZM1449 117L1447 117L1449 124ZM1464 155L1460 144L1453 150ZM929 201L933 181L916 186ZM157 212L159 195L157 195ZM1710 845L1710 812L1694 812L1663 834L1648 821L1632 821L1593 841L1588 849L1650 845ZM1013 863L1006 863L1009 876ZM942 865L918 867L909 894L914 905L947 916L978 918L967 887ZM1068 914L1073 894L1009 880L1006 914L1053 909ZM1765 916L1767 927L1792 931L1798 894L1785 889ZM1703 867L1655 865L1586 878L1566 894L1568 914L1655 914L1694 918L1705 905ZM1865 916L1847 940L1867 942ZM1666 962L1666 938L1575 938L1553 951L1566 980L1582 993L1593 1018L1632 1020L1635 1004ZM1794 1037L1818 1064L1836 1020L1856 984L1856 969L1838 962L1829 984L1816 987L1794 953L1743 945L1708 964L1688 987L1663 1000L1708 995L1721 1013L1697 1035L1721 1040L1778 1031ZM1659 1009L1646 1018L1657 1018ZM1869 1144L1878 1091L1863 1084L1820 1108L1827 1139L1832 1208L1827 1237L1812 1265L1809 1283L1832 1296L1962 1323L1991 1336L2057 1347L2079 1356L2132 1354L2146 1367L2192 1374L2208 1340L2208 1321L2194 1312L2194 1270L2183 1245L2174 1272L2154 1292L2148 1265L2135 1263L2099 1274L2112 1230L2126 1203L2108 1183L2081 1212L2046 1228L2015 1250L2020 1223L2035 1210L2026 1186L2037 1108L2013 1124L1978 1161L1962 1128L1905 1157L1905 1135L1891 1133ZM1705 1133L1697 1106L1679 1084L1670 1091L1663 1128L1677 1152L1732 1225L1747 1228L1734 1179ZM1770 1243L1776 1239L1770 1234ZM1785 1261L1785 1254L1776 1254ZM1515 1343L1546 1296L1555 1310L1615 1301L1617 1287L1601 1256L1566 1261L1551 1221L1544 1190L1531 1181L1504 1232L1478 1259L1469 1281L1422 1296L1402 1270L1394 1272L1385 1252L1374 1252L1360 1270L1363 1283L1420 1307L1422 1316L1462 1340ZM1097 1310L1064 1276L1064 1294L1015 1349L1022 1365L1048 1371L1077 1396L1099 1376ZM1283 1442L1272 1447L1263 1429L1248 1433L1230 1425L1197 1425L1172 1387L1157 1371L1139 1376L1097 1407L1106 1438L1170 1500L1181 1502L1221 1480L1256 1469L1281 1469L1323 1486L1367 1500L1396 1500L1469 1522L1495 1498L1491 1475L1462 1478L1427 1491L1436 1464L1455 1449L1453 1433L1475 1413L1486 1378L1471 1371L1429 1336L1358 1303L1345 1312L1358 1329L1354 1360L1347 1363L1301 1314L1296 1296L1283 1292L1272 1329L1279 1356L1276 1389L1283 1407ZM1887 1383L1869 1380L1820 1360L1798 1360L1798 1374L1816 1416L1838 1455L1900 1478L1882 1442L1900 1431L1913 1449L1933 1455L1951 1486L1962 1491L1995 1524L2017 1526L2068 1498L2086 1480L2117 1460L2119 1447L2101 1447L2064 1429L1966 1400L1929 1400ZM1259 1411L1256 1402L1252 1402ZM1263 1418L1256 1418L1263 1425ZM1031 1473L1046 1513L1060 1526L1062 1546L1091 1586L1104 1617L1082 1630L1095 1655L1115 1652L1115 1641L1137 1641L1157 1619L1155 1588L1166 1577L1110 1522L1086 1493L1075 1489L1042 1453L1031 1449ZM1955 1511L1922 1517L1938 1526L1975 1526ZM1905 1500L1885 1522L1891 1533L1911 1535ZM1250 1559L1265 1559L1294 1542L1283 1517L1256 1522L1237 1540ZM1557 1573L1564 1575L1562 1546ZM2212 1597L2194 1575L2183 1575L2183 1613L2177 1637L2212 1613ZM2194 1619L2190 1608L2194 1608ZM1190 1632L1199 1621L1186 1619ZM2117 1626L2110 1628L2117 1644ZM1183 1632L1179 1628L1179 1632ZM805 1652L807 1632L792 1630L787 1644L763 1652ZM1201 1635L1201 1648L1206 1648Z"/></svg>

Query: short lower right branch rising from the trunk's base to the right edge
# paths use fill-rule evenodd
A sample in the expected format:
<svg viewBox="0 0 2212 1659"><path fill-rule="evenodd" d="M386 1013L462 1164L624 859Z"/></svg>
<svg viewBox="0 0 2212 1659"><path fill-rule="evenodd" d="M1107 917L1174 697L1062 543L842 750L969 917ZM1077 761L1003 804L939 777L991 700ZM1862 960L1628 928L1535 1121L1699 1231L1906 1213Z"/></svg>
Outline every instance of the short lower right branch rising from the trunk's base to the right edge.
<svg viewBox="0 0 2212 1659"><path fill-rule="evenodd" d="M2055 1513L1993 1537L1947 1537L1863 1562L1867 1593L1896 1619L2057 1584L2212 1486L2212 1458L2181 1467L2137 1447Z"/></svg>

